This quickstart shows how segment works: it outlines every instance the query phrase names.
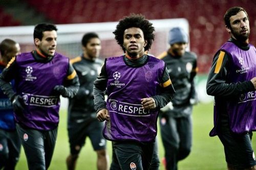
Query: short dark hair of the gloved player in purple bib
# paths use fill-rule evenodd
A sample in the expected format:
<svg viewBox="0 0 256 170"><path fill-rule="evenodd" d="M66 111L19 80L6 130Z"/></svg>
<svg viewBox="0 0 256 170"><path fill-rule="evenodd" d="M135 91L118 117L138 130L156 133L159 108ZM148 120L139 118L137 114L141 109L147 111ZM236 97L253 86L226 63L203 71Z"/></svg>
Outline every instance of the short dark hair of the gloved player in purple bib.
<svg viewBox="0 0 256 170"><path fill-rule="evenodd" d="M52 23L39 23L34 29L34 39L38 38L42 40L43 32L45 31L57 31L57 27Z"/></svg>

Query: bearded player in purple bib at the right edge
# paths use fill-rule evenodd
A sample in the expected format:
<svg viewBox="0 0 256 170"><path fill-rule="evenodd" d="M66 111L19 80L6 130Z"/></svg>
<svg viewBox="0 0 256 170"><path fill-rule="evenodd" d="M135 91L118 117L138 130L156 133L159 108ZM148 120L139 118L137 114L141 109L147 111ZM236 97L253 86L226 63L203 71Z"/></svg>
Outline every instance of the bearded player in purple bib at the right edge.
<svg viewBox="0 0 256 170"><path fill-rule="evenodd" d="M228 169L256 169L251 146L256 131L256 49L249 43L249 17L245 9L232 7L224 15L230 39L212 62L206 90L215 96L214 128L220 138Z"/></svg>

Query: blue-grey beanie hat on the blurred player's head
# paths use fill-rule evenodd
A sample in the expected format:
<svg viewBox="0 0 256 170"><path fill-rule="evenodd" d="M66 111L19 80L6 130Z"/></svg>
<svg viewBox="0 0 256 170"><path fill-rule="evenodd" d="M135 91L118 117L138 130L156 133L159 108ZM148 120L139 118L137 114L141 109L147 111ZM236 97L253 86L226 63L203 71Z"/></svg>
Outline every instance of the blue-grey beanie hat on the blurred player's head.
<svg viewBox="0 0 256 170"><path fill-rule="evenodd" d="M175 27L169 31L168 42L170 45L177 42L188 43L188 36L182 28Z"/></svg>

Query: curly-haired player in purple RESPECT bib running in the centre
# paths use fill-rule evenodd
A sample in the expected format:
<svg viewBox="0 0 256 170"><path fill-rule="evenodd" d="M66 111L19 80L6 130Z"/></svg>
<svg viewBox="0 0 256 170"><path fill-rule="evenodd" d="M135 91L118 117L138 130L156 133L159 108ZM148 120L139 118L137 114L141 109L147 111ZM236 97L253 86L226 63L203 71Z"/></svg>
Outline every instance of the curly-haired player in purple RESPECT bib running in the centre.
<svg viewBox="0 0 256 170"><path fill-rule="evenodd" d="M97 118L106 120L103 136L113 141L115 162L123 170L150 168L158 112L175 93L165 63L144 54L154 31L143 15L121 19L113 33L125 54L105 59L94 82Z"/></svg>

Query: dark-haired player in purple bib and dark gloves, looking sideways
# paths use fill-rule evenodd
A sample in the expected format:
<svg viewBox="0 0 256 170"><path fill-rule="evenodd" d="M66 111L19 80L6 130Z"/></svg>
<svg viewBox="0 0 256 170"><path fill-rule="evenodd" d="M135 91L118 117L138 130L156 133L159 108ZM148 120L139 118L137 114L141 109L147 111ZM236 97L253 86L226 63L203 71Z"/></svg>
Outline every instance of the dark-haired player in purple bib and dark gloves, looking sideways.
<svg viewBox="0 0 256 170"><path fill-rule="evenodd" d="M72 98L79 89L69 59L55 53L56 26L36 25L34 44L34 51L14 57L0 75L0 87L12 102L18 136L33 170L50 166L59 123L59 96ZM13 79L16 92L9 84Z"/></svg>

